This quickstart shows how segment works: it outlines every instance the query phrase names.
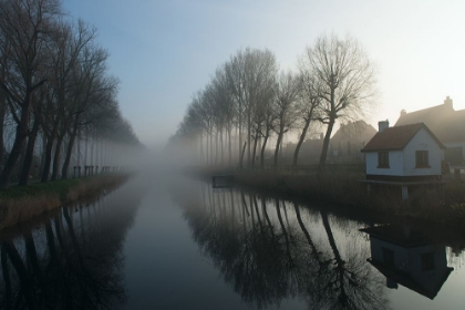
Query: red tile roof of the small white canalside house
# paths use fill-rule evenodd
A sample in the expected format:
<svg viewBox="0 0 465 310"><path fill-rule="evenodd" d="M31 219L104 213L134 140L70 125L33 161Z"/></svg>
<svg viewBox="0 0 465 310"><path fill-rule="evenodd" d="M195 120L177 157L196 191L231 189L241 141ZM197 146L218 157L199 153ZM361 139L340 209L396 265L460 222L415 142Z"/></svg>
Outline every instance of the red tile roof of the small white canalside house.
<svg viewBox="0 0 465 310"><path fill-rule="evenodd" d="M405 126L395 126L385 128L382 133L376 133L374 137L362 148L362 153L378 152L378 151L395 151L403 149L407 143L415 136L415 134L424 128L436 141L441 148L445 146L441 141L430 131L424 123L417 123Z"/></svg>

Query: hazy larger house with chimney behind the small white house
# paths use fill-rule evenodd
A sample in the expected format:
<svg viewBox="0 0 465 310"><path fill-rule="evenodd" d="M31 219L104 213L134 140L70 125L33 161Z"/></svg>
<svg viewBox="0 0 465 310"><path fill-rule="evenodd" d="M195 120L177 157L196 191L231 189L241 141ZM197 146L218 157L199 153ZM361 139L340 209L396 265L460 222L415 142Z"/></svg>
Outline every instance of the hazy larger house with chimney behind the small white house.
<svg viewBox="0 0 465 310"><path fill-rule="evenodd" d="M453 166L464 165L465 154L465 110L455 111L448 96L444 104L406 113L401 112L395 126L425 123L447 147L443 159Z"/></svg>

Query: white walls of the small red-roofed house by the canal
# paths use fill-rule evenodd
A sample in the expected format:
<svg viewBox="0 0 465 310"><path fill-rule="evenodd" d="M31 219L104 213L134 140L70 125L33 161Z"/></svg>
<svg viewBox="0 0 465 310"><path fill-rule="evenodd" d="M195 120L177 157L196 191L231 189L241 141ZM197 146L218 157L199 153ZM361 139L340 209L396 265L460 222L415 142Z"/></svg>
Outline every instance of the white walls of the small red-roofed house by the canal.
<svg viewBox="0 0 465 310"><path fill-rule="evenodd" d="M416 168L415 151L428 151L427 168ZM442 149L434 138L421 128L403 151L389 152L389 168L378 167L378 152L366 153L366 175L431 176L441 175Z"/></svg>

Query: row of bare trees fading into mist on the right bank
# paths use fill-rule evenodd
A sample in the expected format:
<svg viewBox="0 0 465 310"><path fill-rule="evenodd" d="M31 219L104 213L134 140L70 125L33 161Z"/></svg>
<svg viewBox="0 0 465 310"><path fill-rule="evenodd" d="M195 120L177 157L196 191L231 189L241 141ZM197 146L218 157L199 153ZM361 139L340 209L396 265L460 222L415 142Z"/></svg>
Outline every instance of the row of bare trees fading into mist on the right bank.
<svg viewBox="0 0 465 310"><path fill-rule="evenodd" d="M277 166L283 136L292 132L297 165L311 128L326 127L323 169L335 121L363 117L374 97L374 66L352 38L319 37L299 58L297 72L280 71L269 50L247 48L219 65L193 96L170 145L193 146L205 165L262 167L272 138Z"/></svg>

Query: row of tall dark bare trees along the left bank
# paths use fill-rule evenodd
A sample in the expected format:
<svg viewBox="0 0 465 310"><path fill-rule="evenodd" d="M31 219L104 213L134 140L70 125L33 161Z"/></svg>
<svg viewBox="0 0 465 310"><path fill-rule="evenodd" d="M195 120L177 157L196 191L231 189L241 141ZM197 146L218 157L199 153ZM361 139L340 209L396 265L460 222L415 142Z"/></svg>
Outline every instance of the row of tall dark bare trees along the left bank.
<svg viewBox="0 0 465 310"><path fill-rule="evenodd" d="M0 0L1 188L17 172L28 184L38 148L48 182L69 176L81 140L99 143L101 153L140 145L118 110L107 59L96 30L66 16L61 1Z"/></svg>

